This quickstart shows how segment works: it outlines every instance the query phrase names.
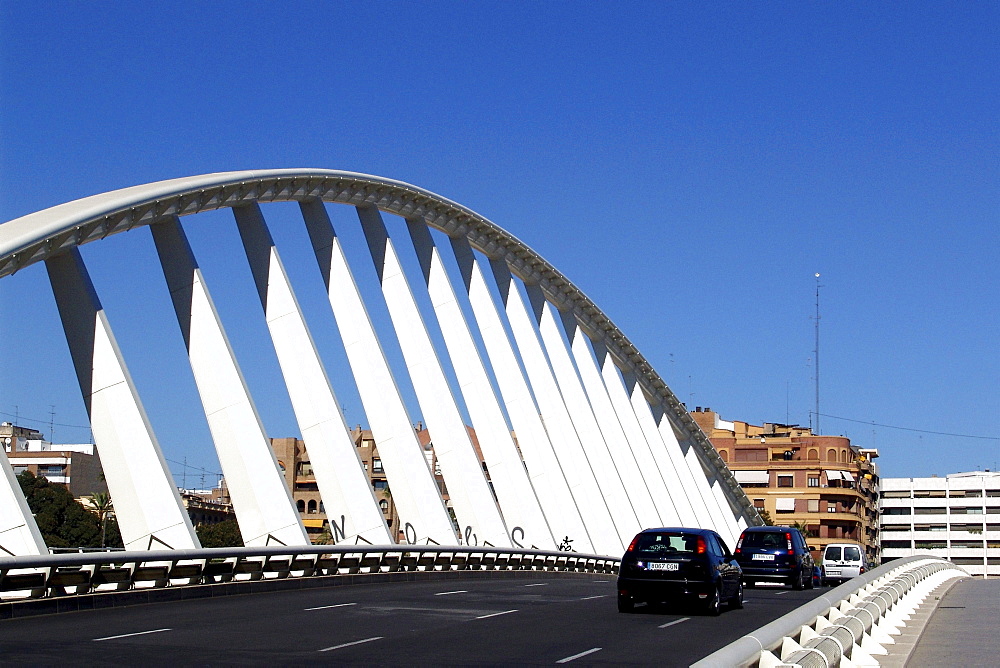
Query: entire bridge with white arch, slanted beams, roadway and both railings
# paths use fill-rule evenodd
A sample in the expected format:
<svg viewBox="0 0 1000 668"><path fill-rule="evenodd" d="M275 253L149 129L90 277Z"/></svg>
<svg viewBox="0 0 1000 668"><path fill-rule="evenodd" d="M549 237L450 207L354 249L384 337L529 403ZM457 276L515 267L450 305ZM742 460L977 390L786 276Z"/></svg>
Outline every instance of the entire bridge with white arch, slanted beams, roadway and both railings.
<svg viewBox="0 0 1000 668"><path fill-rule="evenodd" d="M328 297L349 374L326 368L307 325L314 317L282 263L266 217L281 203L298 205L295 229L281 236L297 234L312 249L313 279ZM353 216L342 215L351 209ZM277 359L336 545L310 544L189 241L195 226L218 224L211 216L220 210L232 216L259 296L260 310L245 317L266 323L271 346L259 354ZM348 256L341 243L334 220L345 218L360 226L364 257ZM202 408L198 419L211 433L244 548L199 544L112 329L134 314L103 307L84 262L82 246L147 228L164 278L148 288L169 294ZM404 251L416 258L416 271ZM377 278L377 293L359 289L354 271L362 264ZM135 280L124 273L128 263L120 265L117 280ZM95 662L155 662L180 642L187 656L206 661L329 653L339 662L643 663L656 653L660 664L686 665L718 650L719 661L732 665L776 665L776 657L808 665L818 654L832 657L831 665L848 654L863 663L889 633L879 624L888 619L891 627L910 590L958 575L924 559L883 566L813 600L817 593L760 589L749 597L753 614L721 633L683 612L613 614L618 558L642 528L711 527L735 544L760 518L684 406L596 304L506 230L418 187L320 169L135 186L0 225L0 278L42 266L125 543L123 552L50 555L0 454L5 629L31 624L14 617L111 610L67 622L72 638L59 645L62 652ZM373 309L388 318L371 317ZM415 401L403 386L412 387ZM348 437L338 399L345 393L360 398L378 443L401 536L388 530ZM414 434L417 416L432 435L447 504ZM559 549L567 540L574 551ZM269 598L251 622L245 604L229 594L253 592ZM180 613L187 622L176 607L156 607L189 599ZM150 623L142 628L113 612L134 603L148 604ZM594 646L593 620L604 613L598 626L608 640ZM192 626L191 615L237 621L202 628L214 632L195 640L205 624ZM282 626L274 615L300 625ZM382 628L405 622L410 631L386 641L389 632L366 630L378 620L391 622ZM181 624L188 636L176 641ZM626 624L640 625L639 635ZM279 636L310 625L319 633L275 649ZM256 629L249 644L247 628ZM622 634L639 639L625 647ZM534 640L512 644L515 636ZM615 637L617 649L606 651ZM700 644L693 647L692 638ZM741 638L756 645L748 650ZM13 640L0 645L8 657L64 656ZM485 653L469 659L471 648Z"/></svg>

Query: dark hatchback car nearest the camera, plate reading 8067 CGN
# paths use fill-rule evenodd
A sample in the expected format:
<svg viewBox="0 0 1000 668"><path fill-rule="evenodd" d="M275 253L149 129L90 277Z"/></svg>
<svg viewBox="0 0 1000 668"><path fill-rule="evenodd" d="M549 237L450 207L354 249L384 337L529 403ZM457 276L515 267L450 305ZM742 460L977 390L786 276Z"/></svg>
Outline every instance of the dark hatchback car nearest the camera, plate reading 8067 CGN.
<svg viewBox="0 0 1000 668"><path fill-rule="evenodd" d="M694 603L710 615L723 601L743 607L742 572L726 543L709 529L646 529L622 557L618 611L636 603Z"/></svg>

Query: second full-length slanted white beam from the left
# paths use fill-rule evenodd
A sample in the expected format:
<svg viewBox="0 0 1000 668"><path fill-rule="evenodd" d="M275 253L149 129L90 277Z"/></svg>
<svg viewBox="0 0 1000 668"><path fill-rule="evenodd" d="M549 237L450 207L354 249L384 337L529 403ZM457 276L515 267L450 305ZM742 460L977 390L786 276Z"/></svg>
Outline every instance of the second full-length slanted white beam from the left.
<svg viewBox="0 0 1000 668"><path fill-rule="evenodd" d="M208 287L177 218L150 226L243 543L308 545ZM141 478L137 478L141 479Z"/></svg>

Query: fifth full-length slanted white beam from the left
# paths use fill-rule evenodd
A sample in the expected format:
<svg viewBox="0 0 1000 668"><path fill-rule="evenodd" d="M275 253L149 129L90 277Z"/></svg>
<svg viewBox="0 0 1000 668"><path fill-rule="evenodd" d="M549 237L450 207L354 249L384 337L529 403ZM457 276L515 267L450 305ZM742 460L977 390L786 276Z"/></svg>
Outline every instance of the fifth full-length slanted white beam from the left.
<svg viewBox="0 0 1000 668"><path fill-rule="evenodd" d="M382 214L374 206L360 206L357 211L399 348L434 445L434 455L448 486L459 523L459 540L473 545L489 542L511 547L503 517L483 475L482 463L472 446Z"/></svg>

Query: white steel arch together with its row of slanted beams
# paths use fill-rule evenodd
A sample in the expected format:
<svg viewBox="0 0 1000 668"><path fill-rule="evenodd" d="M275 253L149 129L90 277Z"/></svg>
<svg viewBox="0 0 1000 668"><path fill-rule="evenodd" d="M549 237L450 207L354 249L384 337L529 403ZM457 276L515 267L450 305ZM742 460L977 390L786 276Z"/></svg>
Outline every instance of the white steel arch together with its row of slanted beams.
<svg viewBox="0 0 1000 668"><path fill-rule="evenodd" d="M332 384L264 222L260 205L271 202L298 202L301 207L331 308L350 353L354 382L373 420L393 500L406 521L406 540L548 548L569 538L575 549L615 554L635 528L651 521L712 526L727 539L734 539L743 526L759 522L752 504L685 408L593 302L514 236L426 190L334 170L228 172L104 193L0 225L0 277L45 262L53 289L64 295L63 302L66 294L74 289L79 292L81 285L79 276L71 280L66 258L76 258L80 275L85 277L76 250L79 246L151 227L209 423L215 425L220 461L229 462L224 464L225 472L234 500L240 499L237 515L248 543L298 544L308 539L274 456L265 452L266 436L253 400L241 383L235 354L225 343L197 261L184 242L184 217L224 208L234 211L240 227L263 315L302 436L317 465L317 482L328 512L344 516L343 526L338 525L344 540L396 539L380 523L381 513L364 482L360 462L344 439L342 416L332 415L339 413ZM357 208L394 331L371 328L362 297L339 256L326 203ZM382 224L382 213L406 219L425 272L423 280L405 276ZM461 280L449 282L439 259L446 247L435 245L420 230L436 230L450 238ZM492 272L479 270L476 253L485 256ZM481 283L489 282L486 275L494 281L492 287ZM520 283L504 284L512 280ZM430 312L420 313L419 300L412 293L417 289L429 291L425 295L433 304ZM522 290L529 295L530 305L521 299ZM490 305L498 299L491 292L508 303ZM463 315L456 299L465 302L468 315ZM124 359L107 324L111 318L104 317L96 295L87 309L82 316L74 316L72 308L61 309L81 387L86 395L85 380L117 374L126 381L113 382L113 387L121 389L106 396L134 407L130 418L116 411L91 412L102 456L106 461L123 462L121 472L108 477L123 533L135 537L130 545L136 547L135 540L153 539L166 545L177 543L173 547L189 547L188 541L196 545L190 522L175 502L176 494L136 492L137 474L124 464L133 460L132 441L116 438L126 429L131 434L145 431L142 451L148 455L144 456L158 462L152 467L152 488L170 490L173 481L152 428L144 420L138 393L127 382ZM81 337L93 339L97 313L98 333L104 332L101 336L110 341L112 354L99 356L92 341L90 348L80 343ZM90 324L74 324L74 317ZM440 349L428 336L425 322L449 328ZM505 329L514 336L508 336ZM386 337L405 344L402 371L387 365L381 352ZM482 341L486 357L476 351L476 338ZM84 357L77 359L80 355ZM461 392L454 393L448 389L446 376L459 364L462 369L454 374ZM413 383L435 447L440 448L438 461L452 493L454 518L446 512L442 490L414 437L407 408L392 390L400 373ZM220 378L228 380L220 384ZM480 454L473 452L468 434L460 428L463 406L480 432L481 461L487 471L495 467L494 488L484 484ZM126 419L132 421L131 426ZM247 442L253 442L250 450L256 454L240 445ZM4 464L0 461L8 471ZM19 492L12 485L10 475L0 476L0 494L17 498ZM600 500L593 498L595 490L600 490ZM23 503L3 505L0 549L15 554L37 551L37 529L26 507ZM174 532L170 540L157 534L166 536L168 529ZM5 535L15 534L19 538L9 541L10 546L3 544Z"/></svg>

